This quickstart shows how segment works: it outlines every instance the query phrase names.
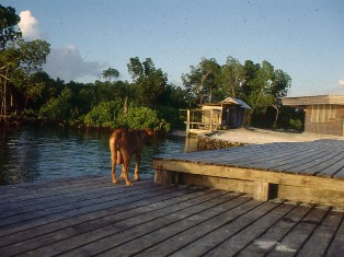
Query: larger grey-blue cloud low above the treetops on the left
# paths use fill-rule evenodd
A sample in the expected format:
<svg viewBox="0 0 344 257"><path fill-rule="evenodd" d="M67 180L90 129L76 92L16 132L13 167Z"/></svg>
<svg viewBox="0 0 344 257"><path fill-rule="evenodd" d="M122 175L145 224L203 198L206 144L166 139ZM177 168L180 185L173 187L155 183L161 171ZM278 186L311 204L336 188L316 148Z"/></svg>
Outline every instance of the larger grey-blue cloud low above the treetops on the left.
<svg viewBox="0 0 344 257"><path fill-rule="evenodd" d="M84 61L76 46L51 49L44 70L53 78L66 82L81 77L96 77L104 66L98 61Z"/></svg>

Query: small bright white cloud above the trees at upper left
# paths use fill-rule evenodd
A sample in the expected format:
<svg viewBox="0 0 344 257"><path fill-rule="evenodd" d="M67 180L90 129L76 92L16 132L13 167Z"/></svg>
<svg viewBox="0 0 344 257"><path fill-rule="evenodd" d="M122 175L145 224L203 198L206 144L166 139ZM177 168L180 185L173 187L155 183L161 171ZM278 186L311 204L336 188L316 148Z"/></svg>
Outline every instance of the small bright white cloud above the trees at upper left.
<svg viewBox="0 0 344 257"><path fill-rule="evenodd" d="M23 37L34 40L42 38L38 21L32 15L31 11L22 11L20 14L21 21L18 24L23 33Z"/></svg>

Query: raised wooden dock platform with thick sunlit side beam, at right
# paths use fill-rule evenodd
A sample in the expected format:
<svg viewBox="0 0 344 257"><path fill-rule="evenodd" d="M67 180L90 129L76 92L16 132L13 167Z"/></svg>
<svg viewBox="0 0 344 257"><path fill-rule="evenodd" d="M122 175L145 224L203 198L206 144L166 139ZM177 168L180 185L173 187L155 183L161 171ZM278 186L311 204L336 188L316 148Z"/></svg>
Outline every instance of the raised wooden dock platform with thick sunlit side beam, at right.
<svg viewBox="0 0 344 257"><path fill-rule="evenodd" d="M156 183L344 208L344 140L251 144L153 159Z"/></svg>

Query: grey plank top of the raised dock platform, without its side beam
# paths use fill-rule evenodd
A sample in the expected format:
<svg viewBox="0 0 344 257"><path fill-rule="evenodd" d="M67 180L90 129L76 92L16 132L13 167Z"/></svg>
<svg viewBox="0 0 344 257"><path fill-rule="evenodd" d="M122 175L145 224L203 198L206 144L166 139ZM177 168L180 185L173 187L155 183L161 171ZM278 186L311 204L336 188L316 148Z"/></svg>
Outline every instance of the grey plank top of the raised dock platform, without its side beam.
<svg viewBox="0 0 344 257"><path fill-rule="evenodd" d="M340 143L337 143L340 147L331 148L332 141L246 145L226 151L196 152L192 153L190 157L186 153L175 157L170 156L169 160L184 160L185 162L218 165L225 164L237 167L252 167L277 172L317 174L321 171L321 166L319 165L322 162L328 161L328 165L332 165L332 161L336 161L333 159L334 156L339 157L343 155L344 157L342 148L340 148L344 147L344 143L340 141ZM322 143L328 143L329 145L322 145ZM160 160L162 159L160 157ZM311 167L314 167L314 171ZM326 176L326 173L322 175ZM331 176L332 174L329 175Z"/></svg>

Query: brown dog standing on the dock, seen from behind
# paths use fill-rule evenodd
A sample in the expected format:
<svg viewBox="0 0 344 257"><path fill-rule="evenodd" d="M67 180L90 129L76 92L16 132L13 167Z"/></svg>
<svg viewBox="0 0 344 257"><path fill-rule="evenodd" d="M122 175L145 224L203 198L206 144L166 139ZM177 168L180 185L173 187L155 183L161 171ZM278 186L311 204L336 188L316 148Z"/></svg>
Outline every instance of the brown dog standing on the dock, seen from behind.
<svg viewBox="0 0 344 257"><path fill-rule="evenodd" d="M141 160L144 144L149 144L154 132L150 129L116 129L110 138L112 182L117 184L116 164L123 164L121 177L127 186L133 186L128 177L128 167L131 155L136 155L134 179L138 180L138 168Z"/></svg>

